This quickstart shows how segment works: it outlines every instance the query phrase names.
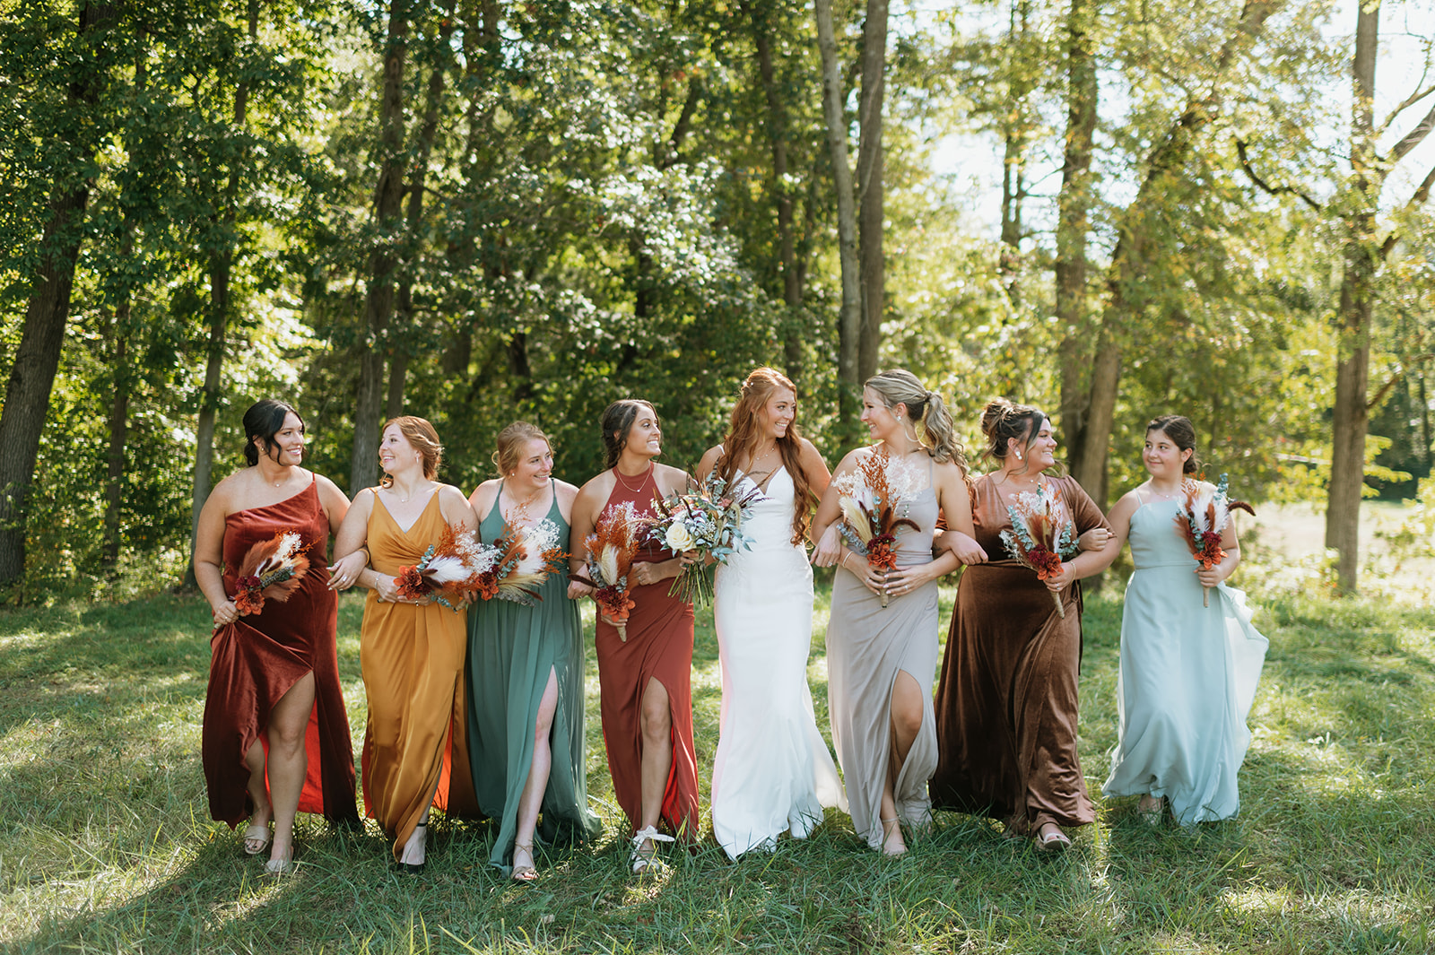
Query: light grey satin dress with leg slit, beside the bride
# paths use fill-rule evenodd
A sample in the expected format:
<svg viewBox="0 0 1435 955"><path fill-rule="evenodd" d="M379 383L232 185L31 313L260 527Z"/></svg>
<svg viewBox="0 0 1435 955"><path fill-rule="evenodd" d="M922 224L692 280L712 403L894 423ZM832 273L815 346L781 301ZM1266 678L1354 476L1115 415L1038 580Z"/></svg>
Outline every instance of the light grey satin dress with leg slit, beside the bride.
<svg viewBox="0 0 1435 955"><path fill-rule="evenodd" d="M930 473L930 472L928 472ZM928 478L930 480L930 478ZM931 533L937 525L937 495L927 488L910 495L900 516L918 529L900 528L894 548L898 566L931 561ZM852 556L848 561L857 561ZM827 697L852 829L872 849L881 849L883 786L891 757L891 695L898 673L907 673L921 691L921 728L907 751L894 784L897 817L908 825L931 822L927 780L937 767L937 726L931 710L931 683L937 671L937 581L910 594L881 598L851 572L838 569L832 579L832 614L827 627Z"/></svg>

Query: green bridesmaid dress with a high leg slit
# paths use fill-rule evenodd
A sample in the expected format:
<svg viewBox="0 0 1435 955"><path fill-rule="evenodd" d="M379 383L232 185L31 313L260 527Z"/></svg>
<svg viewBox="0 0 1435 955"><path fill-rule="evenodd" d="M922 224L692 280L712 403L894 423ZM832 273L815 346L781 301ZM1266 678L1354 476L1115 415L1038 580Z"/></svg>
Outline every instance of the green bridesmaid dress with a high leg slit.
<svg viewBox="0 0 1435 955"><path fill-rule="evenodd" d="M502 492L502 486L499 486ZM568 522L552 505L544 518L567 542ZM492 543L504 532L498 502L479 523ZM479 601L468 611L468 749L474 790L485 816L499 823L491 865L511 870L518 800L534 759L538 704L557 675L558 707L548 736L552 769L544 792L537 837L545 845L578 845L598 836L603 825L588 810L583 741L583 625L578 605L568 599L568 574L551 574L540 588L542 601L524 607L512 601Z"/></svg>

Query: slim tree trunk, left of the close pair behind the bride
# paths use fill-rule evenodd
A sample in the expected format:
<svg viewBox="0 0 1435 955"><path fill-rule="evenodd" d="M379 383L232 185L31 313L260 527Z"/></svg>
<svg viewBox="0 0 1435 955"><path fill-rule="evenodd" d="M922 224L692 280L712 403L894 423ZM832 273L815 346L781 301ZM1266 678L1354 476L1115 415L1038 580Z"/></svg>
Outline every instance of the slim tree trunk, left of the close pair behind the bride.
<svg viewBox="0 0 1435 955"><path fill-rule="evenodd" d="M842 423L855 419L861 381L857 341L862 321L862 291L857 258L857 202L852 198L852 168L847 159L847 112L842 103L842 75L837 65L837 34L832 30L832 0L814 0L818 50L822 54L822 113L827 119L827 148L832 158L832 186L837 191L837 251L842 270L842 310L837 323L837 377ZM855 424L854 424L855 427Z"/></svg>

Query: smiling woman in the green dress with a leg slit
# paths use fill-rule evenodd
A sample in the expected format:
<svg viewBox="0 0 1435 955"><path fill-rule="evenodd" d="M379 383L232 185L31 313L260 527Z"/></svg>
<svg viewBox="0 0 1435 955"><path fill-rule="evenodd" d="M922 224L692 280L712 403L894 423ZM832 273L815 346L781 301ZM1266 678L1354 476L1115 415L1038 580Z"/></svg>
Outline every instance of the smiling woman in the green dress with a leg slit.
<svg viewBox="0 0 1435 955"><path fill-rule="evenodd" d="M568 546L578 489L554 480L548 436L514 422L498 433L494 463L501 478L485 480L469 498L479 536L494 543L505 528L540 528L555 546ZM488 860L519 882L538 878L535 829L548 845L583 843L603 832L588 810L583 622L567 589L567 572L555 572L532 607L484 601L468 611L474 790L484 814L499 820Z"/></svg>

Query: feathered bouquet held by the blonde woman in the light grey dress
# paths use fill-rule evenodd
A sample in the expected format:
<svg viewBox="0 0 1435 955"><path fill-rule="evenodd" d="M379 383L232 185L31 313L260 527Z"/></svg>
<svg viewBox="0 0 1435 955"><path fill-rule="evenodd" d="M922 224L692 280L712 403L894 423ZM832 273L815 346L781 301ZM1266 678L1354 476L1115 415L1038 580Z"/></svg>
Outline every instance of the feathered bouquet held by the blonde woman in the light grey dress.
<svg viewBox="0 0 1435 955"><path fill-rule="evenodd" d="M921 531L907 518L911 495L918 490L911 467L878 449L867 455L854 470L832 479L838 490L842 522L837 531L842 541L867 564L883 572L897 569L897 531ZM885 588L880 594L887 607Z"/></svg>

